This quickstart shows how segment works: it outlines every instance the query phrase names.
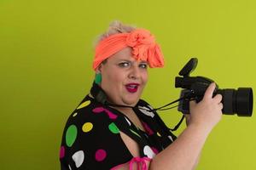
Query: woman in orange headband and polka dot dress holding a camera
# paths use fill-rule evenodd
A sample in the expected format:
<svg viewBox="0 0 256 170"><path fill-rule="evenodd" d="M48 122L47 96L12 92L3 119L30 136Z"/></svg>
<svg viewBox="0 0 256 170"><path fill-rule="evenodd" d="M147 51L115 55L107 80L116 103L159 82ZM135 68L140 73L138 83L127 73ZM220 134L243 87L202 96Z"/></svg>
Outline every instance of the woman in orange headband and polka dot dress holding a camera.
<svg viewBox="0 0 256 170"><path fill-rule="evenodd" d="M193 169L208 134L221 118L222 96L190 102L188 127L176 138L160 116L140 99L148 65L164 65L154 36L113 22L96 44L96 79L67 120L61 169Z"/></svg>

